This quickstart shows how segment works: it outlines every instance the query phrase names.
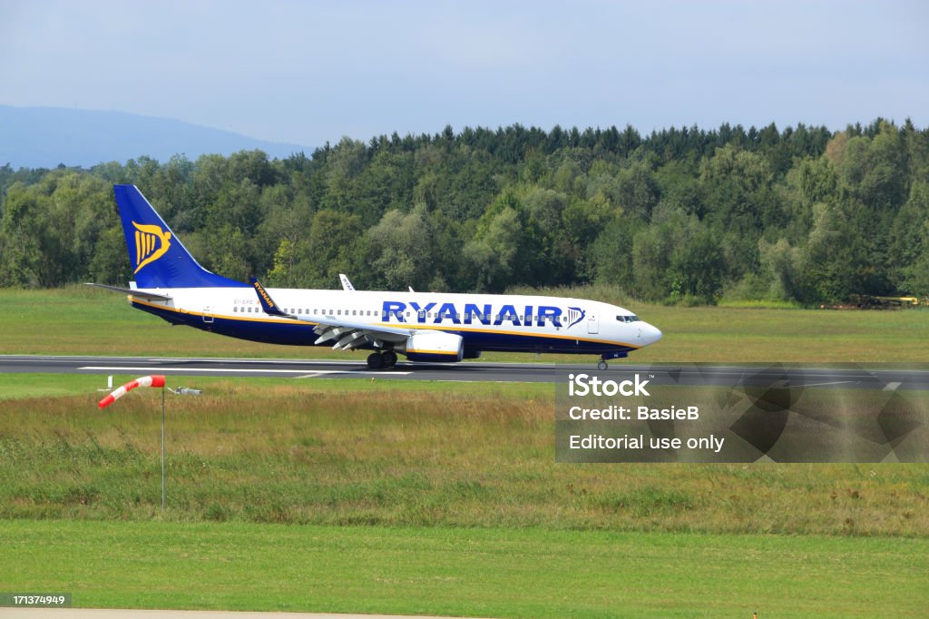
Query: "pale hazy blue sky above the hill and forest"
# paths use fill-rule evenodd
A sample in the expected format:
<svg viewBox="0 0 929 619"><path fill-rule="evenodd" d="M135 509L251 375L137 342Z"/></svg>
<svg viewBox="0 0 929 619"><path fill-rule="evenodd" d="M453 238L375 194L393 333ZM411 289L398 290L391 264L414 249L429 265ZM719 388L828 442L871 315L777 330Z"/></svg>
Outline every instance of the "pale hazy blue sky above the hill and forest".
<svg viewBox="0 0 929 619"><path fill-rule="evenodd" d="M929 2L0 0L0 104L309 147L445 125L929 125Z"/></svg>

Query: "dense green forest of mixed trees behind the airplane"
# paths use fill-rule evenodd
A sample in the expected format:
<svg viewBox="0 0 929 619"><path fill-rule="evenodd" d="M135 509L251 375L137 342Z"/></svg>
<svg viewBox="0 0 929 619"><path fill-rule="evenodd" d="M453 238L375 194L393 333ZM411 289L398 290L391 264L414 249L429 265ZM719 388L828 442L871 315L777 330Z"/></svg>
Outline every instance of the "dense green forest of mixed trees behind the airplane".
<svg viewBox="0 0 929 619"><path fill-rule="evenodd" d="M137 185L206 269L281 287L605 283L684 305L929 295L929 130L451 126L262 151L0 167L0 286L125 285Z"/></svg>

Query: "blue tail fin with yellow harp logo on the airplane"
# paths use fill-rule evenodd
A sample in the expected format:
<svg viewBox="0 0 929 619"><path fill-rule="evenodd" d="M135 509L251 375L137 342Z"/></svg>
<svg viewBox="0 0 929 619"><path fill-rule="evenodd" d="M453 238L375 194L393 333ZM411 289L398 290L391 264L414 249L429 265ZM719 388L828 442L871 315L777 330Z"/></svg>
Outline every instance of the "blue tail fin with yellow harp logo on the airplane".
<svg viewBox="0 0 929 619"><path fill-rule="evenodd" d="M113 185L139 288L247 287L203 269L135 185Z"/></svg>

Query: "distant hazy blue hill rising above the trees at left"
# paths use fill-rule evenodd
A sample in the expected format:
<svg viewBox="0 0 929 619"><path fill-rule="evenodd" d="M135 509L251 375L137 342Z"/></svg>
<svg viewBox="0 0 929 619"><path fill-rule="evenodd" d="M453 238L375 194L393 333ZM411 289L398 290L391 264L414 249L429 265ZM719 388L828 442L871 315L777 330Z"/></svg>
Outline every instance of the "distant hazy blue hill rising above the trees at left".
<svg viewBox="0 0 929 619"><path fill-rule="evenodd" d="M313 150L168 118L0 105L0 166L90 167L109 161L124 163L142 155L165 162L180 152L192 160L203 153L228 155L253 149L278 158Z"/></svg>

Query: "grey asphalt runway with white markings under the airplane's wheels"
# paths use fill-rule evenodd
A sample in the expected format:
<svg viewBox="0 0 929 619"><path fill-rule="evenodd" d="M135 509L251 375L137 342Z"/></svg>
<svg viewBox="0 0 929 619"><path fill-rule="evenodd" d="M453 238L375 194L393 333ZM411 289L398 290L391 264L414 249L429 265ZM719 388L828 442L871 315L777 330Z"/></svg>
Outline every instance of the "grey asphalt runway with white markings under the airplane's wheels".
<svg viewBox="0 0 929 619"><path fill-rule="evenodd" d="M369 370L363 361L299 361L287 359L176 359L167 357L98 357L0 355L0 374L100 374L171 376L266 376L293 379L364 378L376 380L441 380L459 382L557 383L569 374L586 373L604 379L647 375L655 385L682 386L779 385L783 387L929 390L929 368L862 368L854 364L829 367L785 367L728 364L611 363L599 371L595 363L422 364L399 362L389 370Z"/></svg>

